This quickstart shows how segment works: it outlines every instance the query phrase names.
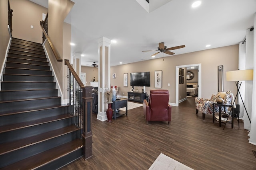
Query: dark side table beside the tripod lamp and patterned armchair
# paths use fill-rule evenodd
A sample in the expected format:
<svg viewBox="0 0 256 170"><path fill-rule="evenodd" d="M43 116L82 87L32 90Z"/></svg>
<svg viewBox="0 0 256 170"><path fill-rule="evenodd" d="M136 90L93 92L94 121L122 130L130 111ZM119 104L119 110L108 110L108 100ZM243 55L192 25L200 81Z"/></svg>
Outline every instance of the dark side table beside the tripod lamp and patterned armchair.
<svg viewBox="0 0 256 170"><path fill-rule="evenodd" d="M217 107L219 107L219 119L216 119L215 118L215 109L214 109L214 105L216 105ZM221 122L225 123L225 126L226 126L226 123L227 121L221 121L221 107L224 107L224 112L226 112L226 107L231 107L231 117L232 117L232 121L231 121L231 127L234 128L234 107L232 104L218 104L218 103L213 103L212 104L212 122L214 123L214 120L217 120L219 121L219 126L221 127ZM227 113L227 112L226 112Z"/></svg>

